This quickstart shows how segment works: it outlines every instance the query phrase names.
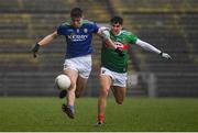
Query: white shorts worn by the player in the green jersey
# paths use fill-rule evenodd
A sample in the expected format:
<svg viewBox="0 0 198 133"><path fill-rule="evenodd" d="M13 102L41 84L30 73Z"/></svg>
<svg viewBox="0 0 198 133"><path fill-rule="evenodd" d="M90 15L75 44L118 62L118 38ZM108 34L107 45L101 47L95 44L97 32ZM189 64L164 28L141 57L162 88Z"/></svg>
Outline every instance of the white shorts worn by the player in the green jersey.
<svg viewBox="0 0 198 133"><path fill-rule="evenodd" d="M109 70L106 67L101 67L100 75L110 76L112 78L112 86L119 86L119 87L127 86L127 79L128 79L127 73L116 73L116 71Z"/></svg>

